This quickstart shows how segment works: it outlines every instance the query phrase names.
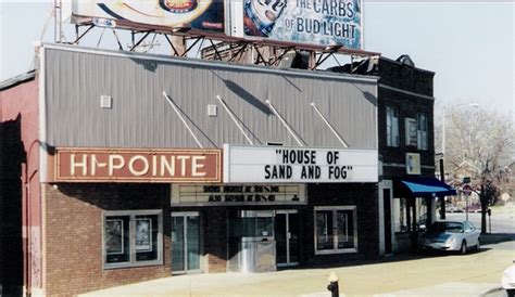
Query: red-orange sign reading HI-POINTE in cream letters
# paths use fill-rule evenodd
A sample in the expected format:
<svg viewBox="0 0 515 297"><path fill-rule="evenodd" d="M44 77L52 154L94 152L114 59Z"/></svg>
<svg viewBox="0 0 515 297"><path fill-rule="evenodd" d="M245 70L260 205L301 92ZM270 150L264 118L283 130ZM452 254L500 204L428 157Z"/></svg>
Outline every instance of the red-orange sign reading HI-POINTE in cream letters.
<svg viewBox="0 0 515 297"><path fill-rule="evenodd" d="M55 148L58 182L221 182L219 150Z"/></svg>

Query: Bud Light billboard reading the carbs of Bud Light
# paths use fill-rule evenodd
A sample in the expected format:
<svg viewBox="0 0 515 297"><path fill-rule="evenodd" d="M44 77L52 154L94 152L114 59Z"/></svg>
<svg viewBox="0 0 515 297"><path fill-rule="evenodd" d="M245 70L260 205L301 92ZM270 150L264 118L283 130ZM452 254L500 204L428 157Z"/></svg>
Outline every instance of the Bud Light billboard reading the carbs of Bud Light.
<svg viewBox="0 0 515 297"><path fill-rule="evenodd" d="M242 1L231 4L240 37L362 49L361 0Z"/></svg>

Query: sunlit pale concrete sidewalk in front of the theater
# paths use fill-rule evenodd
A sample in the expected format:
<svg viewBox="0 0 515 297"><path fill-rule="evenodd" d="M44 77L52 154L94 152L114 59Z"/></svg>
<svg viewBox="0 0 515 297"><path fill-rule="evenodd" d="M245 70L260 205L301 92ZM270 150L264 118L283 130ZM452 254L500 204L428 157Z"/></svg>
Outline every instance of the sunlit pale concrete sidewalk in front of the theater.
<svg viewBox="0 0 515 297"><path fill-rule="evenodd" d="M502 271L512 258L514 250L483 246L480 253L466 256L409 255L339 268L171 276L81 296L329 297L326 286L331 271L340 277L340 296L480 296L499 292Z"/></svg>

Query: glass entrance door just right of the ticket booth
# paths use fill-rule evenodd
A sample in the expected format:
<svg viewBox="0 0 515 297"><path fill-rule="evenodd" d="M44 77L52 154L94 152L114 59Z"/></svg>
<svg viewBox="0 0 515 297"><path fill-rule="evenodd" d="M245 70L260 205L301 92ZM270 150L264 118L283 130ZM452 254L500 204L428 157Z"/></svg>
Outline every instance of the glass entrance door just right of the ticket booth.
<svg viewBox="0 0 515 297"><path fill-rule="evenodd" d="M297 210L277 210L275 215L277 266L299 263L299 214Z"/></svg>

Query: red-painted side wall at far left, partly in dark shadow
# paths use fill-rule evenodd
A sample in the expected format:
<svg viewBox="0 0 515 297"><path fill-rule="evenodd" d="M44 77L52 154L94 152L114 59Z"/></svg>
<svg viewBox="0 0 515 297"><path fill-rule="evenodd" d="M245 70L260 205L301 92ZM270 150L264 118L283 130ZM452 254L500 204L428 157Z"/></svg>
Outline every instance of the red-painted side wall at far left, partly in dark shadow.
<svg viewBox="0 0 515 297"><path fill-rule="evenodd" d="M39 80L26 79L0 91L0 285L7 295L41 286Z"/></svg>

